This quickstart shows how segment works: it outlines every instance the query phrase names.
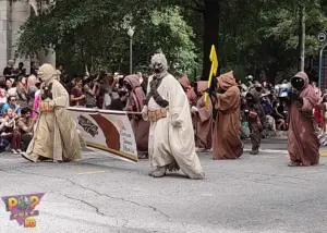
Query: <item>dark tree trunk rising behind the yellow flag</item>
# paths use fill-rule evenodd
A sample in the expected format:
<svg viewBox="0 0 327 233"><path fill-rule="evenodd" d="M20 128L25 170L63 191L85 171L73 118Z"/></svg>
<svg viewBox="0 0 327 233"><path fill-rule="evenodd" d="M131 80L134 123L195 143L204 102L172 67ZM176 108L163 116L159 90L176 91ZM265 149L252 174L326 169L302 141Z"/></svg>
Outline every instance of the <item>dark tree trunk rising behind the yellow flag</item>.
<svg viewBox="0 0 327 233"><path fill-rule="evenodd" d="M203 81L209 78L211 69L210 49L215 45L218 53L219 39L219 0L205 0L204 10L204 58L203 58Z"/></svg>

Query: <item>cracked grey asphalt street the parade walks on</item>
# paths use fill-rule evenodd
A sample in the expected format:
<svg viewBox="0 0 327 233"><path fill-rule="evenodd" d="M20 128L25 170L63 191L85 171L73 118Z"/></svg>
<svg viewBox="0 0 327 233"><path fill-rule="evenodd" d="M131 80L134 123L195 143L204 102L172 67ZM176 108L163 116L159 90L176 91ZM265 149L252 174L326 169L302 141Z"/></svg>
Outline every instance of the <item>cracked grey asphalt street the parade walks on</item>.
<svg viewBox="0 0 327 233"><path fill-rule="evenodd" d="M270 151L284 150L286 140L269 140L262 145L268 152L244 152L234 161L199 155L204 181L179 174L156 180L147 175L147 161L92 151L62 164L2 154L1 196L45 195L36 231L10 221L1 201L0 232L326 232L326 157L318 167L289 168L284 152Z"/></svg>

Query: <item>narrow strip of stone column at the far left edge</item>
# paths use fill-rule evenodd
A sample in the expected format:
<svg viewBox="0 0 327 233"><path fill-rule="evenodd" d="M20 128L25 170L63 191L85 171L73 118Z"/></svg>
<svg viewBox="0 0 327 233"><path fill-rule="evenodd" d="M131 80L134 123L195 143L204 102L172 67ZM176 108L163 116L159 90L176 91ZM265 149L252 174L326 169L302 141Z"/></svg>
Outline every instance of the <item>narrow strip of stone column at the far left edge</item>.
<svg viewBox="0 0 327 233"><path fill-rule="evenodd" d="M0 1L0 76L3 75L2 71L7 66L8 60L11 57L11 24L10 24L10 1Z"/></svg>

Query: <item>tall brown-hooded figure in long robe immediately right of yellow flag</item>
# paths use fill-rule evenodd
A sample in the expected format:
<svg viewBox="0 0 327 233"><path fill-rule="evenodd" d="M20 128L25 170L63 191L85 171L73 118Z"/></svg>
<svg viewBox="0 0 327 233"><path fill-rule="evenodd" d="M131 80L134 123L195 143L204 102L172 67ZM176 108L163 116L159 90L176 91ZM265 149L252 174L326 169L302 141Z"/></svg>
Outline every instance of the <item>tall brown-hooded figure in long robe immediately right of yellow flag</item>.
<svg viewBox="0 0 327 233"><path fill-rule="evenodd" d="M218 77L217 88L219 94L216 94L215 106L218 112L214 128L214 160L237 159L243 154L243 144L239 137L241 97L232 71Z"/></svg>

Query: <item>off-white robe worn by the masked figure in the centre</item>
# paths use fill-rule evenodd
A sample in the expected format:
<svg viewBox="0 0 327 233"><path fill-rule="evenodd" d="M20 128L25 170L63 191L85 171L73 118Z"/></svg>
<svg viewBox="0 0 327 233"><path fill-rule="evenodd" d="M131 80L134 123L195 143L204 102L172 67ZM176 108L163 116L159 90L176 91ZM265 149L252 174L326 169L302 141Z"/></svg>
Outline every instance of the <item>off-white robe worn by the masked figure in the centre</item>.
<svg viewBox="0 0 327 233"><path fill-rule="evenodd" d="M147 93L149 93L149 77ZM164 77L158 87L159 95L169 101L167 118L152 122L149 128L149 159L153 168L168 168L178 163L179 168L191 179L202 174L203 169L195 152L194 130L187 97L179 82L170 74ZM150 98L148 110L160 109ZM178 121L181 127L173 127Z"/></svg>

